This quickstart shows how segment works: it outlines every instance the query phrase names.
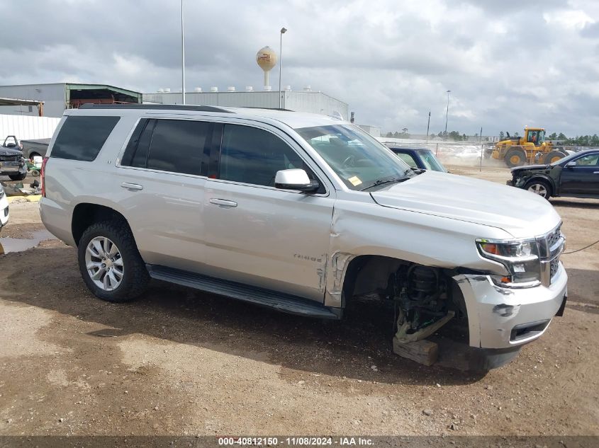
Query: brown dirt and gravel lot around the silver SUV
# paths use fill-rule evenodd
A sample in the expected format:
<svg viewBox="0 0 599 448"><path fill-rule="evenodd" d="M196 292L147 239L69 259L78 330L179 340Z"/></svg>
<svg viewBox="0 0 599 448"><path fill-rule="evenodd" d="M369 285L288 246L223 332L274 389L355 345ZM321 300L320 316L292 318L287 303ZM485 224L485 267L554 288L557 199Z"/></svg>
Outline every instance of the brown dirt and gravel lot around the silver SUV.
<svg viewBox="0 0 599 448"><path fill-rule="evenodd" d="M568 250L599 239L599 200L552 203ZM40 229L13 203L0 236ZM393 355L367 311L313 321L160 282L108 304L44 241L0 256L0 435L599 435L598 246L562 258L565 316L483 376Z"/></svg>

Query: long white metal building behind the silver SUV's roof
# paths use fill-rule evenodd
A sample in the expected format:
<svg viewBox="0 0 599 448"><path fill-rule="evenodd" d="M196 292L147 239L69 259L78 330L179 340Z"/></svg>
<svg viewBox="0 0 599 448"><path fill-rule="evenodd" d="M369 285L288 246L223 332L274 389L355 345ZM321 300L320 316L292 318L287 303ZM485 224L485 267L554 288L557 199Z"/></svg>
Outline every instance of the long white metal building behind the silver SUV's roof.
<svg viewBox="0 0 599 448"><path fill-rule="evenodd" d="M144 93L144 103L181 104L181 92ZM185 103L189 105L214 105L248 108L279 108L279 91L209 91L186 92ZM298 112L333 115L337 112L349 119L349 105L337 98L317 91L281 92L281 108Z"/></svg>

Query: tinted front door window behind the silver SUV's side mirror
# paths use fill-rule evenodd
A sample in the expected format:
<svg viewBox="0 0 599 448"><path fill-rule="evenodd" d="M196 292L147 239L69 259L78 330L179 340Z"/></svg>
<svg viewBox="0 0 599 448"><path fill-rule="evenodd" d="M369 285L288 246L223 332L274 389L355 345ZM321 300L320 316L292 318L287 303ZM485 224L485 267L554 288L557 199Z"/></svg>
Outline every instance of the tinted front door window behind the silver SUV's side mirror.
<svg viewBox="0 0 599 448"><path fill-rule="evenodd" d="M255 127L225 125L220 179L274 186L276 172L289 168L302 168L313 176L296 151L276 135Z"/></svg>

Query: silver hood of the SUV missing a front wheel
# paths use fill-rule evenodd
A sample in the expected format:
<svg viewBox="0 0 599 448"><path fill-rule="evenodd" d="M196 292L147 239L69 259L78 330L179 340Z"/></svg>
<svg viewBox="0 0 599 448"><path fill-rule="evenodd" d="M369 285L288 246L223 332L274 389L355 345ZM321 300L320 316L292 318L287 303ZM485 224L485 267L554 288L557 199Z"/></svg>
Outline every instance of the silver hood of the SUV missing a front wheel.
<svg viewBox="0 0 599 448"><path fill-rule="evenodd" d="M553 206L534 193L437 171L426 171L371 196L384 207L498 227L515 238L547 233L561 220Z"/></svg>

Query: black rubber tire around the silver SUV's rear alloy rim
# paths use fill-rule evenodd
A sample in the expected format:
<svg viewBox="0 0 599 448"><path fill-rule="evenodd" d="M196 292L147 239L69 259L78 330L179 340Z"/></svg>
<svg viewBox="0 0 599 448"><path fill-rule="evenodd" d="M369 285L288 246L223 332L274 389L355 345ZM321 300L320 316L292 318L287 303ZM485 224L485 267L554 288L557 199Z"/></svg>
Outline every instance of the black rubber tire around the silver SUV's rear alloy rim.
<svg viewBox="0 0 599 448"><path fill-rule="evenodd" d="M86 268L87 246L96 237L105 237L111 240L117 246L123 261L121 282L110 291L97 286ZM145 291L150 281L150 275L148 275L145 263L141 258L138 247L135 245L133 234L128 224L122 220L114 219L91 224L79 239L77 255L79 258L79 271L81 271L85 284L96 297L102 300L112 302L132 301Z"/></svg>

